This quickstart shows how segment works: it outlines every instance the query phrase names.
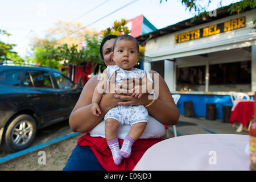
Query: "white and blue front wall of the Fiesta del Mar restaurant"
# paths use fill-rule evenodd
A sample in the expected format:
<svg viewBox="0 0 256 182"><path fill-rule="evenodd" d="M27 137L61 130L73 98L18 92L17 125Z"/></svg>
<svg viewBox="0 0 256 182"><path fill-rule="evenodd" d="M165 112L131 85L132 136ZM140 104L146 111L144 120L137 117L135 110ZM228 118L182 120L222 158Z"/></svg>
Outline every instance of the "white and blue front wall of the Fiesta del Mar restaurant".
<svg viewBox="0 0 256 182"><path fill-rule="evenodd" d="M172 63L164 62L164 80L172 94L181 94L177 104L181 114L184 114L184 102L193 101L195 116L205 117L206 105L216 104L216 118L222 119L222 106L233 105L229 96L230 92L249 90L247 93L253 96L256 91L256 33L251 32L251 29L254 27L252 19L255 14L256 9L148 40L145 46L148 69L154 70L154 67L149 66L153 61L173 61ZM175 35L243 16L245 16L246 27L175 44ZM218 91L218 86L209 85L209 65L238 61L251 61L251 84L237 84L236 88L233 85L222 85L221 91ZM206 84L200 85L197 92L177 92L175 81L177 68L200 65L205 65L206 68L204 75Z"/></svg>

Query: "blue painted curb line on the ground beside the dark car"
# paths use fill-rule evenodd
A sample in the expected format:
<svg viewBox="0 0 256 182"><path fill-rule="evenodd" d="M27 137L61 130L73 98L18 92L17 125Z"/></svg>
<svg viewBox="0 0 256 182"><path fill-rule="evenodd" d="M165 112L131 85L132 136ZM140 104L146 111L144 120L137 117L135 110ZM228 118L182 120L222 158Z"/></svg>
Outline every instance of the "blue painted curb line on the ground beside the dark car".
<svg viewBox="0 0 256 182"><path fill-rule="evenodd" d="M49 142L42 143L42 144L38 144L37 146L33 146L33 147L30 147L30 148L24 149L24 150L22 150L22 151L18 151L18 152L15 152L15 153L13 153L13 154L4 156L3 158L0 158L0 164L3 163L3 162L6 162L7 160L14 159L14 158L16 158L16 157L18 157L18 156L27 154L28 152L32 152L32 151L38 150L39 148L46 147L46 146L48 146L49 144L59 142L59 141L61 141L61 140L64 140L64 139L73 137L73 136L78 135L78 134L80 134L80 133L68 134L68 135L65 135L65 136L63 136L63 137L53 139L53 140L51 140L51 141L49 141Z"/></svg>

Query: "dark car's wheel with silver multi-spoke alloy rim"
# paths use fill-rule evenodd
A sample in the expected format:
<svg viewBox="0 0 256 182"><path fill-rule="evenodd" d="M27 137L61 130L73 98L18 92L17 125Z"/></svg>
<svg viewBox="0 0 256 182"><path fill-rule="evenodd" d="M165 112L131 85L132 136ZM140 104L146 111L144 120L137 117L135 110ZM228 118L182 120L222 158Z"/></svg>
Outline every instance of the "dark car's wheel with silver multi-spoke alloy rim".
<svg viewBox="0 0 256 182"><path fill-rule="evenodd" d="M27 148L34 140L36 130L36 121L31 115L18 115L6 127L3 147L8 152L20 151Z"/></svg>

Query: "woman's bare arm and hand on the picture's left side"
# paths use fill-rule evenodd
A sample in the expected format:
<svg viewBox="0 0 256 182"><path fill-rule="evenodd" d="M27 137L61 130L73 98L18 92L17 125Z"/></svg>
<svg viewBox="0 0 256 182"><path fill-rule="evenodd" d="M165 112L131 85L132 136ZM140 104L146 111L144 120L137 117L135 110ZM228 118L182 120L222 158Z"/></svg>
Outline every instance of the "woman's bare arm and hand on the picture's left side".
<svg viewBox="0 0 256 182"><path fill-rule="evenodd" d="M84 89L80 94L79 100L77 101L74 109L69 116L69 126L71 130L79 133L86 133L93 129L103 118L108 110L112 109L117 105L119 101L114 97L114 93L107 93L101 98L100 108L101 114L95 116L91 112L93 91L98 83L97 76L90 78L86 82Z"/></svg>

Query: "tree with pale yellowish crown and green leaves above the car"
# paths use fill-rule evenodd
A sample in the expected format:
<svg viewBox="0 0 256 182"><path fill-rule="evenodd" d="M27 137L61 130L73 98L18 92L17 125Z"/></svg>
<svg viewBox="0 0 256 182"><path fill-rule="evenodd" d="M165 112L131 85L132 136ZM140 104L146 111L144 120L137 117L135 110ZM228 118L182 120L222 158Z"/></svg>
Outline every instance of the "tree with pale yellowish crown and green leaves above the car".
<svg viewBox="0 0 256 182"><path fill-rule="evenodd" d="M93 30L79 28L80 23L56 22L55 27L49 28L45 38L40 39L35 36L31 40L31 49L34 52L31 59L35 63L57 68L60 61L65 63L79 65L88 60L85 56L88 51L85 48L80 50L81 40L85 39L84 35L93 35ZM76 31L79 30L79 31Z"/></svg>

